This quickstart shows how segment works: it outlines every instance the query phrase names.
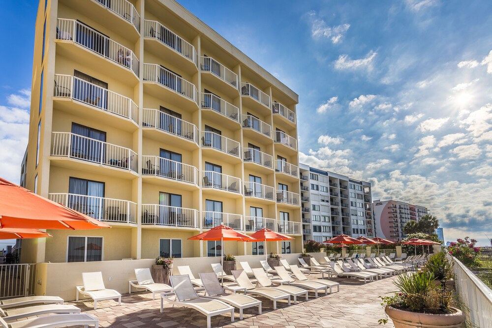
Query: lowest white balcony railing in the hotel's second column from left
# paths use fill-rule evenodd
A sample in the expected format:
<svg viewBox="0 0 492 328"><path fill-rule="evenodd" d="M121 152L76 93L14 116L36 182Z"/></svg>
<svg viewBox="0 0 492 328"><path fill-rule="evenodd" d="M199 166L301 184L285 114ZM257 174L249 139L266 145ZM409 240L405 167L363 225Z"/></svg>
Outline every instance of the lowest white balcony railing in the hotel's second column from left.
<svg viewBox="0 0 492 328"><path fill-rule="evenodd" d="M198 210L142 204L142 224L198 228Z"/></svg>

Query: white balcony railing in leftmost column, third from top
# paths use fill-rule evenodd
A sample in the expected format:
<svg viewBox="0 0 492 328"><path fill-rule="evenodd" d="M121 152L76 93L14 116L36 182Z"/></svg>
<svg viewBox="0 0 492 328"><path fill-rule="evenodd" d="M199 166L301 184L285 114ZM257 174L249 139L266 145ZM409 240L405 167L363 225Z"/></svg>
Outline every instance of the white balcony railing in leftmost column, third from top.
<svg viewBox="0 0 492 328"><path fill-rule="evenodd" d="M53 95L83 102L138 124L138 106L133 100L78 77L55 74Z"/></svg>

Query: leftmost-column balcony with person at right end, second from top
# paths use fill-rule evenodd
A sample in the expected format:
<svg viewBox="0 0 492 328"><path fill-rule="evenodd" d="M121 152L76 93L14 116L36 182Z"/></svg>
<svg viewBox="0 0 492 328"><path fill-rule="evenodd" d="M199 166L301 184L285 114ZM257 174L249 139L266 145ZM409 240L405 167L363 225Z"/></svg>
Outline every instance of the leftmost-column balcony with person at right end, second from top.
<svg viewBox="0 0 492 328"><path fill-rule="evenodd" d="M59 18L56 28L57 54L84 63L93 70L111 72L108 61L116 64L122 82L138 82L139 60L130 49L73 19ZM74 47L74 45L76 47ZM87 56L76 48L82 47L96 56ZM115 73L111 72L111 73Z"/></svg>

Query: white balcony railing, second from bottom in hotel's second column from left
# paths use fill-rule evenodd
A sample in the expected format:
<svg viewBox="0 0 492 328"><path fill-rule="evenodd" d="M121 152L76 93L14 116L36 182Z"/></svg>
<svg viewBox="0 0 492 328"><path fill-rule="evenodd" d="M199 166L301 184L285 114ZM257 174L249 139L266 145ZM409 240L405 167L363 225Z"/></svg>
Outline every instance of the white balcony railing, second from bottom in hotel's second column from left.
<svg viewBox="0 0 492 328"><path fill-rule="evenodd" d="M198 169L159 156L142 156L142 174L198 185Z"/></svg>

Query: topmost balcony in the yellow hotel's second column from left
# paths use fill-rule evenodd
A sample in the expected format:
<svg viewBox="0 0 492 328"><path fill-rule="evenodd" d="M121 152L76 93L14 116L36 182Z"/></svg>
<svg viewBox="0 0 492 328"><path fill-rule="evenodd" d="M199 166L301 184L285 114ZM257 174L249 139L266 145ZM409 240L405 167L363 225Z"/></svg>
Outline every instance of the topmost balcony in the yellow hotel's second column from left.
<svg viewBox="0 0 492 328"><path fill-rule="evenodd" d="M144 21L144 48L174 67L193 75L198 71L195 47L157 21Z"/></svg>

